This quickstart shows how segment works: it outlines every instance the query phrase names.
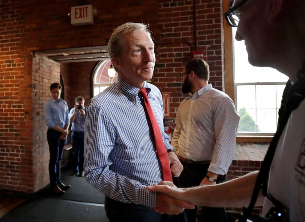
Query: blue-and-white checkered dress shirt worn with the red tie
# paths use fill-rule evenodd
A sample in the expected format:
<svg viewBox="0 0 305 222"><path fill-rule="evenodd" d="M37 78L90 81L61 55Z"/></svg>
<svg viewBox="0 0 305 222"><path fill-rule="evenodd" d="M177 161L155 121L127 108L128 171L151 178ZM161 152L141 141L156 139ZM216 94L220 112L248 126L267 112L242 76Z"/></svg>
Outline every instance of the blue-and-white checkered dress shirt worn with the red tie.
<svg viewBox="0 0 305 222"><path fill-rule="evenodd" d="M149 83L149 101L166 149L159 89ZM125 203L155 207L156 193L147 185L162 180L161 165L137 87L120 78L90 100L85 114L85 179L100 192Z"/></svg>

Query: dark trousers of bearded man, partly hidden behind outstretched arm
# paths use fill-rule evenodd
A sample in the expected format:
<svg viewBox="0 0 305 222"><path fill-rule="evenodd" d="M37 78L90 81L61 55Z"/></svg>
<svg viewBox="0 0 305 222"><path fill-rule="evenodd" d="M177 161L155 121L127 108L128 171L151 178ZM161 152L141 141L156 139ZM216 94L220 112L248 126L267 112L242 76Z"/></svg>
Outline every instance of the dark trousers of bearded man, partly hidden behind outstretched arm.
<svg viewBox="0 0 305 222"><path fill-rule="evenodd" d="M197 163L182 163L184 169L181 175L178 177L178 184L180 188L188 188L199 186L201 181L207 175L209 163L207 164L197 164ZM219 175L217 178L217 184L224 182L226 180L226 175ZM213 198L211 196L210 198ZM197 221L197 206L193 210L185 209L188 217L188 222ZM202 207L202 218L200 221L203 222L224 222L227 220L226 212L224 208L212 208L212 207Z"/></svg>

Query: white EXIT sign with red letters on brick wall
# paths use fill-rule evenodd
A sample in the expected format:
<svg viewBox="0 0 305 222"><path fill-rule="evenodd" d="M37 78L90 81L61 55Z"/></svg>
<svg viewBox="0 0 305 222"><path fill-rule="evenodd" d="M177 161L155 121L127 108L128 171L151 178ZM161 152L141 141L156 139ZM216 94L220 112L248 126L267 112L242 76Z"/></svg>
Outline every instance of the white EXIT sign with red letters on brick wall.
<svg viewBox="0 0 305 222"><path fill-rule="evenodd" d="M71 7L71 25L93 24L92 5Z"/></svg>

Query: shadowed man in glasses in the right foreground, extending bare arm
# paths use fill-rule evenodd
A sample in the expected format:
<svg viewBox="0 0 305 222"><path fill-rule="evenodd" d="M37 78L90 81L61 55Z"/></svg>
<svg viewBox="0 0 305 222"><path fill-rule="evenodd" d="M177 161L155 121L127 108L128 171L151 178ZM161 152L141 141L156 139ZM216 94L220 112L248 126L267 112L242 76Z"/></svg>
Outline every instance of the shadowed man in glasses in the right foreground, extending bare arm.
<svg viewBox="0 0 305 222"><path fill-rule="evenodd" d="M265 160L259 172L250 172L222 184L180 189L169 182L161 182L149 190L201 206L243 207L250 202L248 208L243 208L239 222L249 221L251 211L248 209L254 206L263 206L263 215L266 215L255 221L303 222L305 1L238 0L232 3L225 16L231 26L237 27L236 40L245 40L249 63L275 68L290 80L279 112L279 127Z"/></svg>

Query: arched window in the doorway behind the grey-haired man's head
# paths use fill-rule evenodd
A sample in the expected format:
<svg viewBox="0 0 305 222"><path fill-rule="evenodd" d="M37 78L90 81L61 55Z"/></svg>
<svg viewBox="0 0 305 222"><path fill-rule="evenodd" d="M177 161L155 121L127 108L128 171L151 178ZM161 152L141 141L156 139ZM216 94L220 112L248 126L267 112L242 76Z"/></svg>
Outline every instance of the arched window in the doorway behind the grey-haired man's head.
<svg viewBox="0 0 305 222"><path fill-rule="evenodd" d="M117 73L114 77L109 77L108 75L108 68L110 65L110 59L105 59L97 64L93 73L93 96L101 93L112 83L117 81Z"/></svg>

